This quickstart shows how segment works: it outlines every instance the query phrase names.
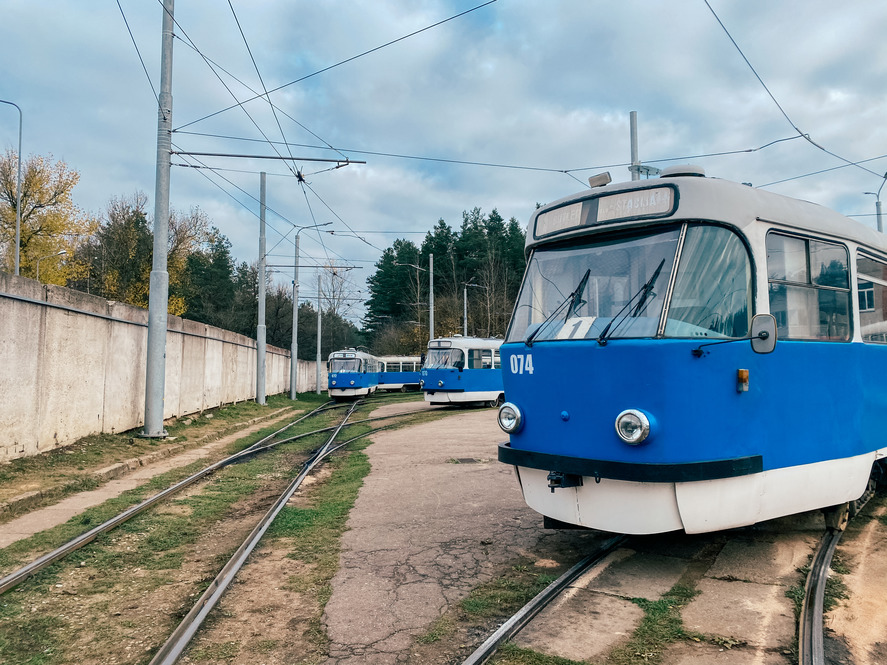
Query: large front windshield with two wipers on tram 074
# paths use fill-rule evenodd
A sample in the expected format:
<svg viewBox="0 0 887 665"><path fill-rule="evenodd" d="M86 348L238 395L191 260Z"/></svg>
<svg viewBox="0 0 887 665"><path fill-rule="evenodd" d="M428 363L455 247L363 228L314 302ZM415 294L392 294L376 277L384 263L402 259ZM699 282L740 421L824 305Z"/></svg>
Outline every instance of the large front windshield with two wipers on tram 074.
<svg viewBox="0 0 887 665"><path fill-rule="evenodd" d="M747 336L751 265L745 245L724 227L685 228L674 276L680 227L537 248L507 341Z"/></svg>

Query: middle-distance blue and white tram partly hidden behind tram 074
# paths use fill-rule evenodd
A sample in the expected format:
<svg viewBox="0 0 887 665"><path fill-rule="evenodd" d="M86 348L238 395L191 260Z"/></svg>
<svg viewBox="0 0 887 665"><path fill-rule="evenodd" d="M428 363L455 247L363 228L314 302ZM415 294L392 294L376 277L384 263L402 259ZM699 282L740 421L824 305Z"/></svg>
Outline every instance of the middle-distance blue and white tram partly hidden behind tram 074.
<svg viewBox="0 0 887 665"><path fill-rule="evenodd" d="M501 339L461 335L428 342L420 384L425 401L436 405L502 404L501 344Z"/></svg>

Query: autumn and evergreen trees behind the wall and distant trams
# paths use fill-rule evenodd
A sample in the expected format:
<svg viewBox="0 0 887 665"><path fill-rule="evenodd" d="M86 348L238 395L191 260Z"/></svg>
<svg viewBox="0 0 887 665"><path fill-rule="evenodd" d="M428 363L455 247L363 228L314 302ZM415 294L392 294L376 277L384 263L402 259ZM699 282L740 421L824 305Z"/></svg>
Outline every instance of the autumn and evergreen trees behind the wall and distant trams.
<svg viewBox="0 0 887 665"><path fill-rule="evenodd" d="M0 156L0 266L15 261L17 155ZM147 308L153 260L153 224L147 196L111 198L94 216L77 208L79 174L63 161L32 156L22 164L20 274L108 300ZM230 241L198 207L173 210L169 219L169 313L253 339L258 323L258 267L237 263ZM341 269L321 276L321 352L365 346L379 354L419 354L428 340L429 257L434 255L437 336L461 333L467 291L468 332L501 336L524 270L524 234L496 210L463 213L454 231L444 220L420 246L396 240L367 280L370 298L363 327L348 320L354 293ZM418 266L418 269L415 267ZM466 284L468 286L466 286ZM266 338L288 348L293 299L289 288L266 283ZM301 298L300 298L301 300ZM298 355L316 355L318 308L300 302Z"/></svg>

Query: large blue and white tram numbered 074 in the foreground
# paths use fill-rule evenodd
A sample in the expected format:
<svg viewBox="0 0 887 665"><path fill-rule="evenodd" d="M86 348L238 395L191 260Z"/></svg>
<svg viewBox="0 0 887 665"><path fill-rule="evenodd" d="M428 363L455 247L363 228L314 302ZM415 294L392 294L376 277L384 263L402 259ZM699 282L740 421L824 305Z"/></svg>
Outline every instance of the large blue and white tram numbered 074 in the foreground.
<svg viewBox="0 0 887 665"><path fill-rule="evenodd" d="M527 254L499 459L548 525L702 533L870 489L887 236L672 167L540 208Z"/></svg>

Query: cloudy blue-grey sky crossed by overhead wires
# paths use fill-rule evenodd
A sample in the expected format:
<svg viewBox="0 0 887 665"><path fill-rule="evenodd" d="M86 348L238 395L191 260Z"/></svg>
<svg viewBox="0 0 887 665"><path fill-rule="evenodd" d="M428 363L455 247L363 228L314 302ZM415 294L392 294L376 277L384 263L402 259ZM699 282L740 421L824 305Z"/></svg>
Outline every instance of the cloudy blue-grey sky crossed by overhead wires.
<svg viewBox="0 0 887 665"><path fill-rule="evenodd" d="M96 216L135 192L153 211L160 0L0 7L0 99L22 108L25 156L77 170L75 203ZM525 224L590 175L628 180L630 111L646 164L692 162L875 226L884 2L178 0L175 17L175 149L301 158L304 187L281 161L173 156L212 168L174 166L172 207L205 211L238 262L258 255L260 171L270 262L292 263L294 226L332 222L302 232L302 261L357 266L365 295L381 250L438 219L458 228L479 207ZM18 143L3 104L0 143Z"/></svg>

